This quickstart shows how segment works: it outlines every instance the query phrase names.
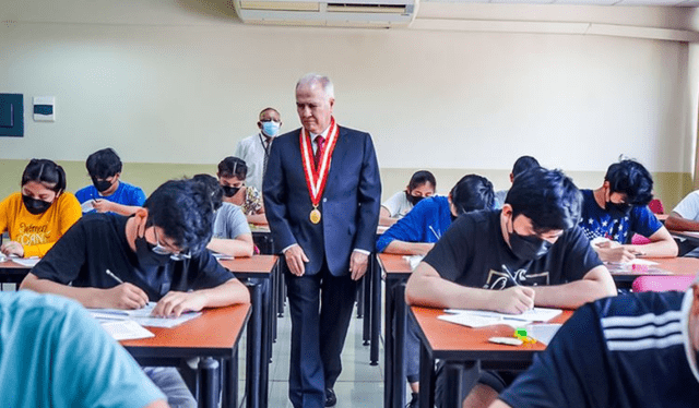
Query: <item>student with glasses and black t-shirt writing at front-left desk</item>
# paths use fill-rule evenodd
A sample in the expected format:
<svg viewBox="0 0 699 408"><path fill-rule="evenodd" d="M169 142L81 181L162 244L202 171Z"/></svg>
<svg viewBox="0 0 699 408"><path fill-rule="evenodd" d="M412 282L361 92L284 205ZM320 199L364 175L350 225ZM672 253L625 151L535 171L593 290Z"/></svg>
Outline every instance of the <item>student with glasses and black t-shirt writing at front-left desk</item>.
<svg viewBox="0 0 699 408"><path fill-rule="evenodd" d="M87 214L22 281L22 289L66 296L86 308L138 309L179 316L249 302L248 289L205 250L213 203L192 180L168 181L130 217ZM146 368L174 406L196 406L174 368Z"/></svg>

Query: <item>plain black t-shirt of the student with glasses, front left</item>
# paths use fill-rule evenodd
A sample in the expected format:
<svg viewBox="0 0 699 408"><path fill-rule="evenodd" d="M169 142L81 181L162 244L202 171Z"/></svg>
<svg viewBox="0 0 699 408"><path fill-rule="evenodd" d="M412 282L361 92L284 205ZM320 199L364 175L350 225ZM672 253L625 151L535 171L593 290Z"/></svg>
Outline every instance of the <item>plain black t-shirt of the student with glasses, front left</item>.
<svg viewBox="0 0 699 408"><path fill-rule="evenodd" d="M108 289L119 285L109 269L125 283L143 289L151 301L170 290L213 288L234 276L209 251L190 260L168 261L163 266L142 267L126 237L128 217L86 214L51 248L32 273L63 285Z"/></svg>

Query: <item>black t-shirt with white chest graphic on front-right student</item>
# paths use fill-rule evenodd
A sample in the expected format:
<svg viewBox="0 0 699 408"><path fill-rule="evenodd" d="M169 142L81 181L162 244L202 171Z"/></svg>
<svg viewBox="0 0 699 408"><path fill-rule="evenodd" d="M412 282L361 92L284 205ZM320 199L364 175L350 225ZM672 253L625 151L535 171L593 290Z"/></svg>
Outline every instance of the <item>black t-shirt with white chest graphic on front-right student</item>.
<svg viewBox="0 0 699 408"><path fill-rule="evenodd" d="M447 280L483 289L508 288L514 285L512 278L523 286L561 285L602 265L578 226L565 231L538 260L518 259L502 238L500 211L460 216L425 262Z"/></svg>

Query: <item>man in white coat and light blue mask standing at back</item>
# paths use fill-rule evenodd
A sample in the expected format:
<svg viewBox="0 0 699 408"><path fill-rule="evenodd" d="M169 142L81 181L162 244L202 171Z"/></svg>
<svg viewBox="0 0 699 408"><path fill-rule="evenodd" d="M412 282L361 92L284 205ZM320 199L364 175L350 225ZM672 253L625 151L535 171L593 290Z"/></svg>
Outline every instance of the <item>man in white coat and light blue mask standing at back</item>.
<svg viewBox="0 0 699 408"><path fill-rule="evenodd" d="M247 184L254 187L258 191L262 191L262 178L270 157L270 147L280 133L281 127L280 112L274 108L264 108L258 121L260 133L241 140L236 146L234 156L244 159L249 169Z"/></svg>

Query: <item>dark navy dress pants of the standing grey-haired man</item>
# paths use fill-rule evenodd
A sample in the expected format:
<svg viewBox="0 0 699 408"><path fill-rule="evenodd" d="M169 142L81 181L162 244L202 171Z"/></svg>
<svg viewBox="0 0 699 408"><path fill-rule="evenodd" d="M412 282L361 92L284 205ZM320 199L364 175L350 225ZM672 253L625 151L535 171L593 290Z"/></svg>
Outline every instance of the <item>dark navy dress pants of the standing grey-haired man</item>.
<svg viewBox="0 0 699 408"><path fill-rule="evenodd" d="M325 261L318 274L286 271L285 278L292 315L289 399L295 408L322 408L325 388L334 387L342 371L357 283L348 273L330 274Z"/></svg>

